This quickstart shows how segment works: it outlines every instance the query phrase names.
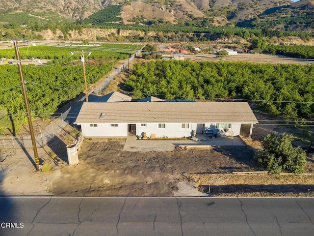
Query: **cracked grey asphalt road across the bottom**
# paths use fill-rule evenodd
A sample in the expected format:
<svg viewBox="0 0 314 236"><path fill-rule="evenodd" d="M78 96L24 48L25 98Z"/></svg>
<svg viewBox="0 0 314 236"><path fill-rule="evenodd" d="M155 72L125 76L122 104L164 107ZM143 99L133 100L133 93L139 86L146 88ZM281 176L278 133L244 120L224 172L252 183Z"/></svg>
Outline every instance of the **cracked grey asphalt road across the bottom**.
<svg viewBox="0 0 314 236"><path fill-rule="evenodd" d="M313 219L314 198L0 198L1 236L313 236Z"/></svg>

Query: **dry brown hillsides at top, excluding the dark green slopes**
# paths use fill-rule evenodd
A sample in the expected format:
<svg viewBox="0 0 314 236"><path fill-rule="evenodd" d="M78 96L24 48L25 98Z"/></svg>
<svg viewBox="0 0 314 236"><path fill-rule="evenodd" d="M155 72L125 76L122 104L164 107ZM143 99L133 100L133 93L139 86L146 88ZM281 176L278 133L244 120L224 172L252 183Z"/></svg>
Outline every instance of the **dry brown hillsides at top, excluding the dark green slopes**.
<svg viewBox="0 0 314 236"><path fill-rule="evenodd" d="M136 20L180 23L206 18L213 25L232 25L252 19L266 9L291 3L291 0L11 0L0 2L0 13L50 12L76 20L84 19L106 6L120 4L125 24Z"/></svg>

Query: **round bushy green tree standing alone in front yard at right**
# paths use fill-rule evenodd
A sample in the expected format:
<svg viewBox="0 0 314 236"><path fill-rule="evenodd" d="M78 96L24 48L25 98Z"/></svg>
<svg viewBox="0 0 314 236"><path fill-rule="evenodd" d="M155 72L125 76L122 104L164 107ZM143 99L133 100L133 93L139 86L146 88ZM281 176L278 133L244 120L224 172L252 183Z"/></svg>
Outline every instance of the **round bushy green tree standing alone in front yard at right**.
<svg viewBox="0 0 314 236"><path fill-rule="evenodd" d="M273 174L282 171L304 173L306 152L300 147L293 148L291 142L292 135L277 136L276 132L267 134L262 140L262 149L258 149L255 154L258 163Z"/></svg>

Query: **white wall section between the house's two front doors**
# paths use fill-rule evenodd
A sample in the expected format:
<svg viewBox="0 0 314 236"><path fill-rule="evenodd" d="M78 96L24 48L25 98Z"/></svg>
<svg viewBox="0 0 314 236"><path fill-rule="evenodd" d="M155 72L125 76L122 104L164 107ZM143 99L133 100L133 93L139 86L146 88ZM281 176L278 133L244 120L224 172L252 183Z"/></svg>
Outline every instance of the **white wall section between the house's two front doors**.
<svg viewBox="0 0 314 236"><path fill-rule="evenodd" d="M146 123L146 127L140 127L140 124L136 124L136 135L142 135L146 133L147 137L151 137L151 134L156 134L156 138L168 137L168 138L181 138L191 136L192 130L196 130L196 123L189 123L188 129L181 128L182 123L166 123L166 128L158 128L158 123Z"/></svg>

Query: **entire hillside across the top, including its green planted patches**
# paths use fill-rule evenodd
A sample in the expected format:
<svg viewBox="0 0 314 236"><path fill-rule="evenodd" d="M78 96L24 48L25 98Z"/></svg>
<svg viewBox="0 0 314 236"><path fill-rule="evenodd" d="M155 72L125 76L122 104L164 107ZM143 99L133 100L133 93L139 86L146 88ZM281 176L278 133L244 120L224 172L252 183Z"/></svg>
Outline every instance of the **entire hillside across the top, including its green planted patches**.
<svg viewBox="0 0 314 236"><path fill-rule="evenodd" d="M314 30L314 0L12 0L0 1L0 25L178 24Z"/></svg>

